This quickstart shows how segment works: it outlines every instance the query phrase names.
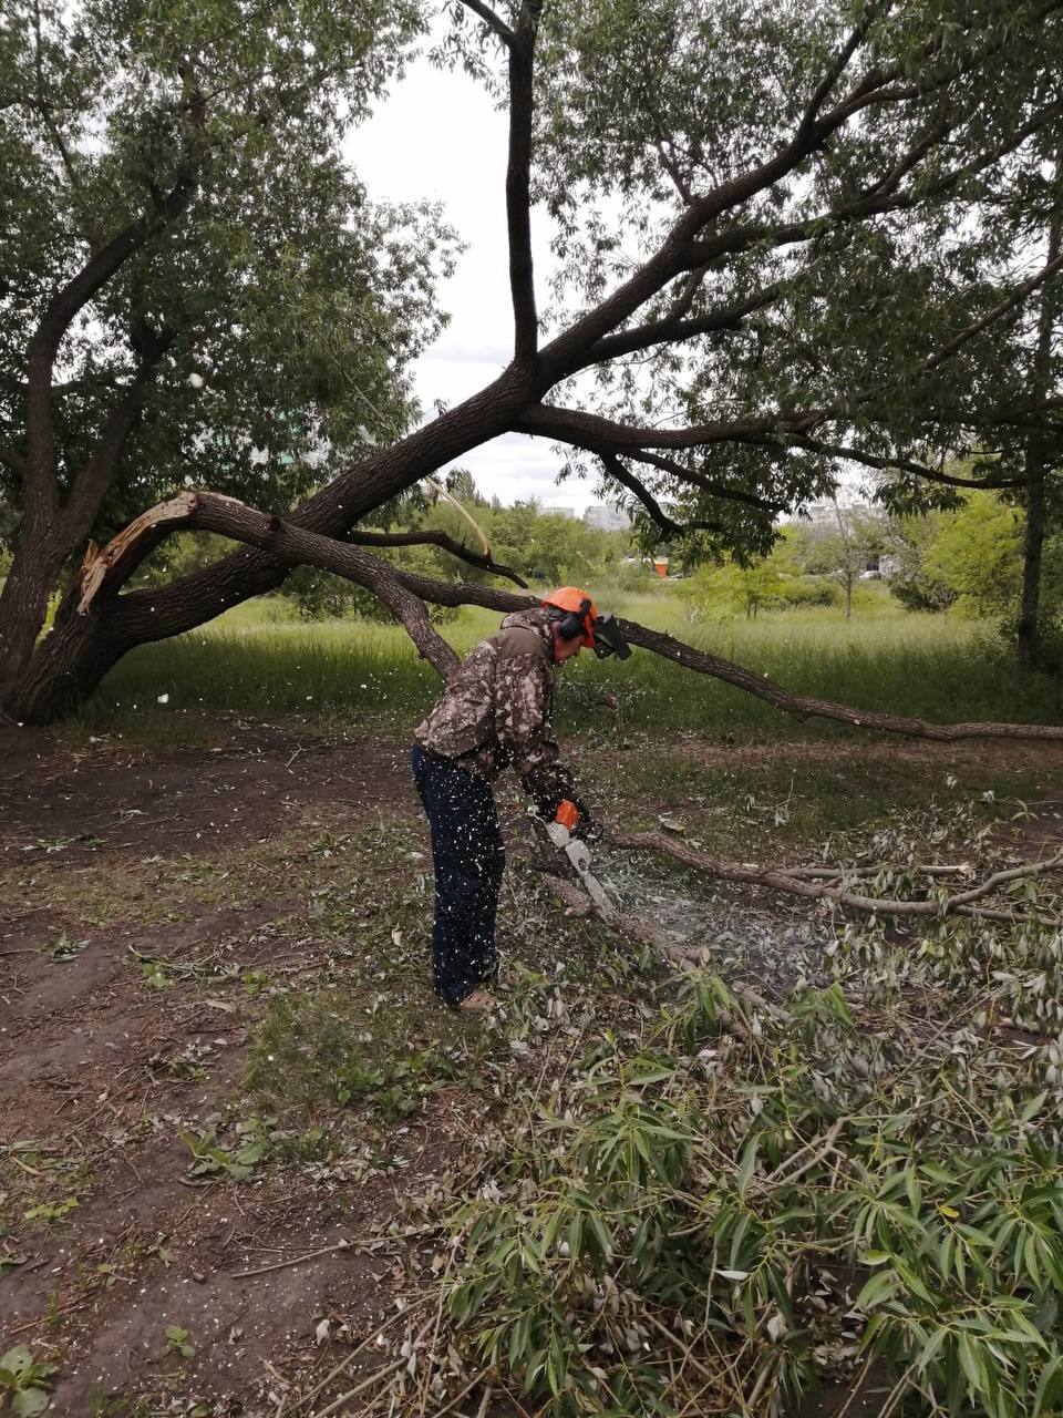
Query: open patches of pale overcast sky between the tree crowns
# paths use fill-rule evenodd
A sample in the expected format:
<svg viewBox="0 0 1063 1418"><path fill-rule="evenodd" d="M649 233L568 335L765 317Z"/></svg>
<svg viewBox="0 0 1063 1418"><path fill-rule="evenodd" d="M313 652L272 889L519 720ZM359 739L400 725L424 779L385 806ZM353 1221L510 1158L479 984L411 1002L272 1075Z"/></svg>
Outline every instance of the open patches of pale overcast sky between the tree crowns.
<svg viewBox="0 0 1063 1418"><path fill-rule="evenodd" d="M506 133L505 112L461 69L439 71L418 60L347 145L373 197L442 201L466 244L458 269L439 292L451 323L417 366L417 393L428 414L437 398L456 404L475 394L512 354ZM550 271L546 221L541 211L532 213L540 305ZM506 434L459 462L472 471L483 492L503 502L539 498L583 510L595 501L587 484L554 485L558 459L541 438Z"/></svg>

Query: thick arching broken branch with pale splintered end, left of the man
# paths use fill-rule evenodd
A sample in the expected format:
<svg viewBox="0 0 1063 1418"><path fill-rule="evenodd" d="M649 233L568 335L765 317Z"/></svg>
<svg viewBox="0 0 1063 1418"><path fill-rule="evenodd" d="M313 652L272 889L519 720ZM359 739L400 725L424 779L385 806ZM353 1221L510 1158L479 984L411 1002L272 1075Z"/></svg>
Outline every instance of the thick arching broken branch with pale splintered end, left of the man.
<svg viewBox="0 0 1063 1418"><path fill-rule="evenodd" d="M159 532L171 533L183 527L217 532L237 542L262 547L291 566L319 566L364 586L377 596L401 621L421 655L448 679L458 666L458 657L428 620L424 603L395 576L393 567L353 546L317 536L292 526L281 518L266 516L254 508L224 498L217 492L181 492L162 502L130 522L105 547L89 543L81 567L81 601L84 615L111 576L120 573L122 562L135 556L145 537L157 543Z"/></svg>

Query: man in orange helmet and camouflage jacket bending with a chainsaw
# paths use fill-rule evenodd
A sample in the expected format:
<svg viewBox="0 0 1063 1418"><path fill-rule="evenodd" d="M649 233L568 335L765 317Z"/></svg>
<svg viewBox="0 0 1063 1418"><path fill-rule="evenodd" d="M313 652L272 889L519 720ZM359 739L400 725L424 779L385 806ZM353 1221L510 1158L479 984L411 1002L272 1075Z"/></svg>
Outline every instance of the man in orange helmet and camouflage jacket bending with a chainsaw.
<svg viewBox="0 0 1063 1418"><path fill-rule="evenodd" d="M483 1014L497 970L495 915L506 852L492 784L506 769L547 821L590 828L550 729L554 666L583 647L631 654L611 615L575 586L507 615L451 678L414 739L414 778L432 831L432 983L451 1008Z"/></svg>

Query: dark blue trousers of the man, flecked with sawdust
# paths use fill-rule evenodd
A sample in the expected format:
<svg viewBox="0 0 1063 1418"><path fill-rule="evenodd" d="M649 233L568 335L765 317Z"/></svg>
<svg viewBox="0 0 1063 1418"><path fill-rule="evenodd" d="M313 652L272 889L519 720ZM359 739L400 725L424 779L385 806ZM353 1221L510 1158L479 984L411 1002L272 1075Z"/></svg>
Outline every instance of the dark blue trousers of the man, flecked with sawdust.
<svg viewBox="0 0 1063 1418"><path fill-rule="evenodd" d="M489 783L420 744L411 760L432 830L432 983L456 1007L497 968L495 915L506 848Z"/></svg>

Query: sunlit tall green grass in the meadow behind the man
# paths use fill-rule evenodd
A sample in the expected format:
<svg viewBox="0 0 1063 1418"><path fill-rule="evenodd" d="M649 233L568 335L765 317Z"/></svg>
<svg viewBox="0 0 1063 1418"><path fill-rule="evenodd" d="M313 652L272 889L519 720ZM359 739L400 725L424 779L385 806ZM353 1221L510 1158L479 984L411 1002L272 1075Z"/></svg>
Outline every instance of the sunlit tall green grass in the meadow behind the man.
<svg viewBox="0 0 1063 1418"><path fill-rule="evenodd" d="M1063 722L1063 683L1023 675L1006 648L969 621L909 614L867 597L852 621L832 608L761 614L755 621L690 618L672 590L619 598L614 608L771 676L798 693L860 709L927 719ZM444 627L465 654L499 624L466 608ZM832 736L846 730L798 725L770 705L658 655L629 661L581 655L558 676L561 732L609 722L602 693L619 700L629 729L696 730L740 737ZM145 715L232 710L257 718L330 716L408 733L439 691L435 672L405 634L361 621L306 624L285 603L235 608L210 625L128 655L84 710L89 729ZM159 708L160 696L166 696Z"/></svg>

